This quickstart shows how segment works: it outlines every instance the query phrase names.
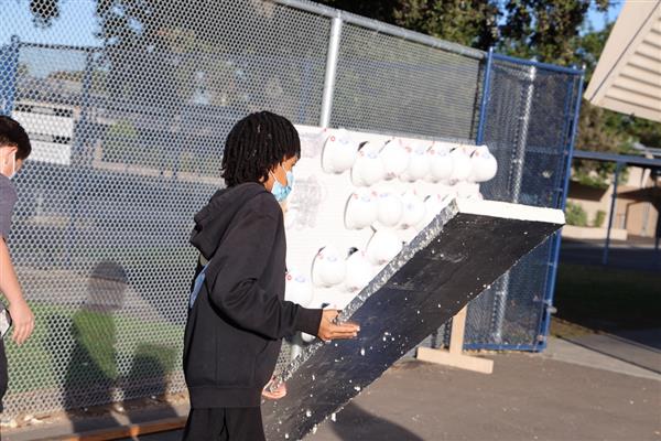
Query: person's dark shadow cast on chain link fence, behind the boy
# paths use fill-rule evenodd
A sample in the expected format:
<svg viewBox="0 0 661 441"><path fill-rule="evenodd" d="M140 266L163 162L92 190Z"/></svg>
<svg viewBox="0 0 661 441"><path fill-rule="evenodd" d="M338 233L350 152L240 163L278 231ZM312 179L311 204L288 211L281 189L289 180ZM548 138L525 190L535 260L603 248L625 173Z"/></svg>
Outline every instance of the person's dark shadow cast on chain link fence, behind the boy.
<svg viewBox="0 0 661 441"><path fill-rule="evenodd" d="M71 319L61 314L48 318L53 335L48 349L54 364L62 363L56 358L62 352L57 346L62 342L58 332L62 333L64 323L71 323L68 332L74 347L66 362L62 404L75 432L99 429L97 417L104 420L104 427L119 426L120 421L113 417L119 406L111 405L119 399L160 397L166 392L166 376L176 361L172 347L139 344L129 373L119 374L117 326L124 323L120 312L127 288L123 268L112 261L101 261L89 276L87 295L79 310ZM100 407L105 405L110 406ZM130 422L134 422L133 413L137 412L126 413ZM162 418L176 416L169 406L164 406L161 413Z"/></svg>

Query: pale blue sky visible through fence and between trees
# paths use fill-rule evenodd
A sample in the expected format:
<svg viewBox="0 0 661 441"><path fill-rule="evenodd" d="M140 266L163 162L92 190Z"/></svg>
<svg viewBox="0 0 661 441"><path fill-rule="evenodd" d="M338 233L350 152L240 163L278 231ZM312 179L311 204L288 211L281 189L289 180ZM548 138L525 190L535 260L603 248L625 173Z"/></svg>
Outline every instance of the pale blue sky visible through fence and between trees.
<svg viewBox="0 0 661 441"><path fill-rule="evenodd" d="M19 35L22 42L64 44L74 46L99 46L101 42L95 36L98 31L95 17L96 0L59 0L61 15L52 25L41 29L34 25L30 12L30 0L0 0L0 46L8 44L12 35ZM608 12L598 12L590 8L588 21L595 30L602 30L617 18L624 0L611 0ZM36 54L36 52L35 52ZM36 76L46 76L52 71L75 68L82 60L76 56L52 56L47 63L30 58L26 62L32 66L31 73ZM37 55L32 55L36 57ZM39 56L43 56L40 53ZM47 66L47 67L46 67Z"/></svg>

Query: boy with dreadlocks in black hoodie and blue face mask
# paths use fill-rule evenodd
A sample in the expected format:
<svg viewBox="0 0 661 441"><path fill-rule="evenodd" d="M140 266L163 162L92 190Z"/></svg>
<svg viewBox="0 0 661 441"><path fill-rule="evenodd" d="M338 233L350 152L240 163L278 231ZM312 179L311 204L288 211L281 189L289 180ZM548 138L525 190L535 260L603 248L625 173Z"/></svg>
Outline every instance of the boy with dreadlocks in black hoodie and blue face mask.
<svg viewBox="0 0 661 441"><path fill-rule="evenodd" d="M231 129L223 155L227 189L195 216L199 260L189 299L184 373L191 412L184 440L264 440L260 402L281 338L302 331L324 341L359 329L338 312L284 300L283 203L301 155L294 126L262 111ZM282 394L275 394L275 396Z"/></svg>

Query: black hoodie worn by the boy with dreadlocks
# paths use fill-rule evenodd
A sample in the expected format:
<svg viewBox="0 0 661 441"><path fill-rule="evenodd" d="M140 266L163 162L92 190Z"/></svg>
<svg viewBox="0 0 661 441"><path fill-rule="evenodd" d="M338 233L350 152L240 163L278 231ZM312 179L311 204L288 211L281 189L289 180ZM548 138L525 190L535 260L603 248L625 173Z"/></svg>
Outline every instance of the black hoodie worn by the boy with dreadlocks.
<svg viewBox="0 0 661 441"><path fill-rule="evenodd" d="M280 340L314 335L322 319L284 300L282 209L259 184L220 190L195 215L191 243L209 261L184 336L191 406L258 407Z"/></svg>

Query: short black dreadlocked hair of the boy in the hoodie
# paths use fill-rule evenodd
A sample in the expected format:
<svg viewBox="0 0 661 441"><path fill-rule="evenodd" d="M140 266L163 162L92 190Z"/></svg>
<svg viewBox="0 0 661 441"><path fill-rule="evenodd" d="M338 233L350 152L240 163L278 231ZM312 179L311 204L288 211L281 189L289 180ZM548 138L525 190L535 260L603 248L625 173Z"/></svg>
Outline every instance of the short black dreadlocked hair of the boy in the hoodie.
<svg viewBox="0 0 661 441"><path fill-rule="evenodd" d="M263 182L273 166L300 155L299 132L289 119L270 111L250 114L227 136L223 178L227 186Z"/></svg>

